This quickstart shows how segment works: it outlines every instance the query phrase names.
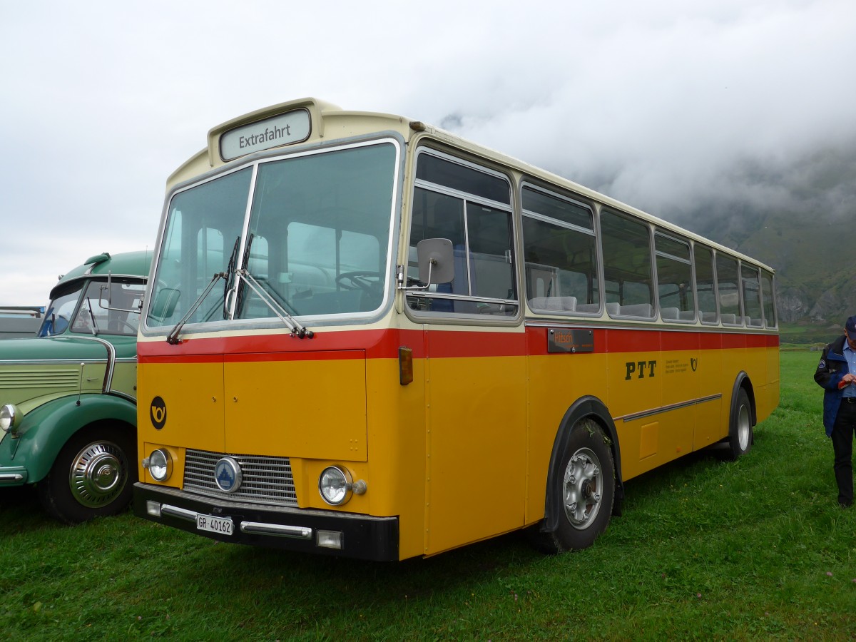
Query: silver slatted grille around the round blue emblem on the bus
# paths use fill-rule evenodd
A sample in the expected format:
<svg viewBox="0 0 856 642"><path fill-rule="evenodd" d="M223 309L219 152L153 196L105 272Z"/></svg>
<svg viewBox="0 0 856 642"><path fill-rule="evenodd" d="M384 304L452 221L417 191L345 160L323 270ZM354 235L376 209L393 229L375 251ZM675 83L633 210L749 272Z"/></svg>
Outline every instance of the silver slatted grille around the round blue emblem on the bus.
<svg viewBox="0 0 856 642"><path fill-rule="evenodd" d="M222 457L231 457L241 466L241 488L233 493L224 493L217 488L214 481L214 468ZM203 495L223 499L240 498L245 502L297 506L297 494L294 492L294 478L288 457L234 455L187 449L184 460L184 490L195 490Z"/></svg>

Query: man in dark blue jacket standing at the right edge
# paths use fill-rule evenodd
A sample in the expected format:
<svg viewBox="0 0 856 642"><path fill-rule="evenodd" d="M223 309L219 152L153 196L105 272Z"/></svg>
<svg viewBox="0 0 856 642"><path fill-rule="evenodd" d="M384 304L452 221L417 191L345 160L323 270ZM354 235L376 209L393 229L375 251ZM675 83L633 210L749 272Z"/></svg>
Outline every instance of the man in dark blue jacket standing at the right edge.
<svg viewBox="0 0 856 642"><path fill-rule="evenodd" d="M844 336L823 348L814 380L823 388L823 427L832 437L838 503L853 505L853 434L856 432L856 316L844 324Z"/></svg>

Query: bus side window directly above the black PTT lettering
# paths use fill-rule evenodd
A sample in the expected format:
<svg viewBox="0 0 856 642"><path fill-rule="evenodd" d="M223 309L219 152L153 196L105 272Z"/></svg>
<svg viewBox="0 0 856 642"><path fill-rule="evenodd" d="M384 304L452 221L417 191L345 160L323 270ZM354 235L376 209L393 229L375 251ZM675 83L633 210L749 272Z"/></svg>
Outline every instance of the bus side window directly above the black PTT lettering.
<svg viewBox="0 0 856 642"><path fill-rule="evenodd" d="M600 234L606 303L610 316L653 317L654 292L648 226L604 210L600 215Z"/></svg>

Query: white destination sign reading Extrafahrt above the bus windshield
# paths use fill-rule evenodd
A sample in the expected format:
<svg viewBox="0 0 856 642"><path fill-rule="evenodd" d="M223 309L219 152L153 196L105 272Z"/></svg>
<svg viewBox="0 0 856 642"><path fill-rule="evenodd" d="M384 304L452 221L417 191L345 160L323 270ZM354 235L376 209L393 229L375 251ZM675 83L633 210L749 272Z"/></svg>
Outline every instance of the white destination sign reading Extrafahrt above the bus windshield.
<svg viewBox="0 0 856 642"><path fill-rule="evenodd" d="M220 136L220 157L233 160L271 147L300 143L309 138L311 126L307 110L294 110L229 129Z"/></svg>

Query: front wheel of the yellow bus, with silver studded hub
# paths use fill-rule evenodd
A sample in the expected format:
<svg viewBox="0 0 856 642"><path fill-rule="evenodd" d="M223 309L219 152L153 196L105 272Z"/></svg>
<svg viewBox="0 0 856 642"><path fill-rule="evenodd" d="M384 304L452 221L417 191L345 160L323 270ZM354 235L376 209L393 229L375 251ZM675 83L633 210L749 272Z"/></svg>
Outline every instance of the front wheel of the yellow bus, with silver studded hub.
<svg viewBox="0 0 856 642"><path fill-rule="evenodd" d="M585 549L609 526L615 498L615 461L603 429L591 419L574 426L558 466L547 481L560 510L554 532L540 525L528 534L538 550L562 553Z"/></svg>

